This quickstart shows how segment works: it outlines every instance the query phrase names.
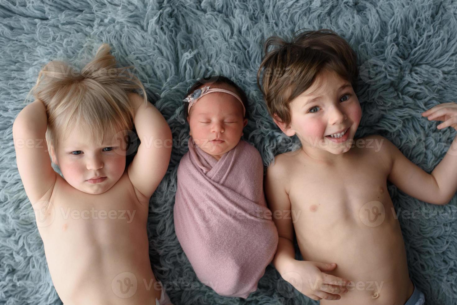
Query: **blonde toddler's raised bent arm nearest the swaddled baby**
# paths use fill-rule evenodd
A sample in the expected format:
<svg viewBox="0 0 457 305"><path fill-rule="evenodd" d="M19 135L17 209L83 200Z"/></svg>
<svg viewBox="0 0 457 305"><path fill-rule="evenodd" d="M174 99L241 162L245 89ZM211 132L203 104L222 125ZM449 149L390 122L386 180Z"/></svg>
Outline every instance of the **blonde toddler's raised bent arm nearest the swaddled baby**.
<svg viewBox="0 0 457 305"><path fill-rule="evenodd" d="M171 155L171 131L165 118L137 93L129 93L135 107L133 123L141 144L128 166L128 177L139 193L150 198L165 175Z"/></svg>

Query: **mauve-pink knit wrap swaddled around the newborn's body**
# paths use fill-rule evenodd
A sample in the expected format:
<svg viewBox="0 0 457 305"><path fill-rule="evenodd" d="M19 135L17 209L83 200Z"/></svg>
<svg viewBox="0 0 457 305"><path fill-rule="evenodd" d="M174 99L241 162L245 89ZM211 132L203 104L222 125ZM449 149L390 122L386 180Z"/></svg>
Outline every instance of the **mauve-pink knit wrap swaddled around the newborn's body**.
<svg viewBox="0 0 457 305"><path fill-rule="evenodd" d="M247 298L276 252L263 165L240 140L219 161L189 139L178 166L176 236L195 273L218 294Z"/></svg>

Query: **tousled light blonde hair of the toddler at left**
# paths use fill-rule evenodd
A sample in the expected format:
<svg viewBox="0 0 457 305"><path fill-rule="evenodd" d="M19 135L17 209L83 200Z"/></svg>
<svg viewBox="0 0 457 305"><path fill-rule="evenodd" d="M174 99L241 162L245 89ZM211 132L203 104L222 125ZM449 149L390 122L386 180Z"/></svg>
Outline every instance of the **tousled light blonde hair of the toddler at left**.
<svg viewBox="0 0 457 305"><path fill-rule="evenodd" d="M105 134L116 134L133 127L133 105L128 92L140 90L144 102L146 91L129 69L116 68L110 46L103 43L94 59L78 70L60 60L46 64L38 74L33 94L46 106L48 129L46 141L57 148L57 140L65 139L75 126L82 128L93 143L102 144Z"/></svg>

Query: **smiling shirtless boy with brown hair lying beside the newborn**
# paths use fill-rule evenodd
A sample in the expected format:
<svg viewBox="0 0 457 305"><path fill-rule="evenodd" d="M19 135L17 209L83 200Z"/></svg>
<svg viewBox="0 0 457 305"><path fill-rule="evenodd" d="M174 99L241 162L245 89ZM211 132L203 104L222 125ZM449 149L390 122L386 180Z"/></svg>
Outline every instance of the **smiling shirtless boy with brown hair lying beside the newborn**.
<svg viewBox="0 0 457 305"><path fill-rule="evenodd" d="M271 46L276 48L269 51ZM354 140L361 120L356 54L335 32L302 32L290 43L270 37L265 53L258 84L268 111L284 134L297 135L302 144L277 155L267 169L272 212L301 212L292 220L274 218L275 267L322 305L424 304L409 278L399 221L389 213L387 180L422 201L446 204L456 192L456 156L447 154L428 174L388 139ZM446 120L444 128L456 112L452 103L423 115ZM304 261L294 259L294 231Z"/></svg>

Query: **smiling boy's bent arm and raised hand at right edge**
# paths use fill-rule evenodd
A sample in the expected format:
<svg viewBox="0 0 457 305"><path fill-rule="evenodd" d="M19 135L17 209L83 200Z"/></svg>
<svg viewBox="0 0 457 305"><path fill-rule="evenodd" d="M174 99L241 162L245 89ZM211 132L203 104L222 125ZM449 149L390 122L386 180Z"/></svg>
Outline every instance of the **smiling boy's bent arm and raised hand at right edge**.
<svg viewBox="0 0 457 305"><path fill-rule="evenodd" d="M457 107L455 103L441 104L423 112L422 115L429 120L446 121L440 124L441 126L438 125L438 128L442 129L452 126L457 118ZM380 138L384 139L385 148L392 158L392 169L388 176L390 182L419 200L440 205L449 203L457 191L457 137L431 174L409 161L388 139Z"/></svg>

